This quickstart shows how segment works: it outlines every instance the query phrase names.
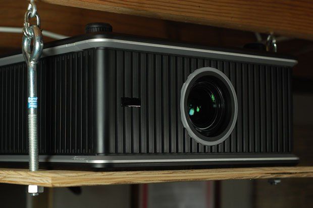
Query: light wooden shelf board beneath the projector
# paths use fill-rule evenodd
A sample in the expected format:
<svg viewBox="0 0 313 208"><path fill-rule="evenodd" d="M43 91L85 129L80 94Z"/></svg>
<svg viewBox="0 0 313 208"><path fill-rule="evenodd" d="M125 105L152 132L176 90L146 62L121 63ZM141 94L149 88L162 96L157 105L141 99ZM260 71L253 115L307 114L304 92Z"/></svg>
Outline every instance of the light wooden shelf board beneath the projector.
<svg viewBox="0 0 313 208"><path fill-rule="evenodd" d="M161 183L259 178L313 177L313 167L231 168L166 171L38 171L0 169L0 183L45 187Z"/></svg>

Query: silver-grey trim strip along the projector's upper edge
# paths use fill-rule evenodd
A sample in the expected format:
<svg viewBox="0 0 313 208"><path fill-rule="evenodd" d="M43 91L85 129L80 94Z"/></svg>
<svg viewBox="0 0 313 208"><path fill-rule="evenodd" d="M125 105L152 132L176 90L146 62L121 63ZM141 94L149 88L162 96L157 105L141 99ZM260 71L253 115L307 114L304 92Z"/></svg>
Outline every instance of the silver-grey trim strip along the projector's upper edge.
<svg viewBox="0 0 313 208"><path fill-rule="evenodd" d="M119 40L111 38L94 38L83 41L78 41L75 43L60 45L56 47L50 47L43 49L41 57L48 57L54 55L60 55L65 53L70 53L73 51L79 51L87 48L93 47L112 47L130 50L142 50L149 51L152 53L165 53L165 54L175 54L182 56L193 56L193 57L203 57L211 59L229 60L229 61L240 61L240 62L252 62L257 64L269 64L269 65L280 65L292 67L298 62L292 59L282 59L274 57L264 57L249 54L236 54L225 51L218 50L208 50L200 48L182 47L174 45L164 45L156 43L146 43L137 42L130 40ZM23 56L14 55L10 57L5 57L0 59L0 66L5 66L9 64L23 62Z"/></svg>

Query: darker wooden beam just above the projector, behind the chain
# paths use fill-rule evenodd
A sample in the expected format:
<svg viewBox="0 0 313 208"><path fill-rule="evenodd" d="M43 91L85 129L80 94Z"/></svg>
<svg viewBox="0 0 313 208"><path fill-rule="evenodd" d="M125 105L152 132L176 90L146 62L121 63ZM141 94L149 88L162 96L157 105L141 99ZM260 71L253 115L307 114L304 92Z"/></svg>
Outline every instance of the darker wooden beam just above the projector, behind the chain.
<svg viewBox="0 0 313 208"><path fill-rule="evenodd" d="M41 29L75 36L84 34L84 27L91 22L107 22L117 33L166 38L175 41L194 42L211 46L241 46L256 41L253 33L205 25L187 24L125 14L116 14L64 7L36 2L41 19ZM27 1L4 1L0 7L1 26L22 27ZM14 11L14 12L13 12ZM56 15L58 14L58 15ZM44 42L53 39L44 37ZM20 48L22 33L0 33L0 54L12 48Z"/></svg>

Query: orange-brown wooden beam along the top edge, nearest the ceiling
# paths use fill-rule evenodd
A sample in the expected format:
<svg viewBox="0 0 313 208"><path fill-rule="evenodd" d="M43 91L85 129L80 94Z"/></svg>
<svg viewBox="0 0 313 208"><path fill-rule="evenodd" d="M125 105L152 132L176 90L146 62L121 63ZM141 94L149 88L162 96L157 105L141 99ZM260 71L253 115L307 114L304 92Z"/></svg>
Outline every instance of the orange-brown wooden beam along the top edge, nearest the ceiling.
<svg viewBox="0 0 313 208"><path fill-rule="evenodd" d="M42 0L51 4L313 39L307 0Z"/></svg>

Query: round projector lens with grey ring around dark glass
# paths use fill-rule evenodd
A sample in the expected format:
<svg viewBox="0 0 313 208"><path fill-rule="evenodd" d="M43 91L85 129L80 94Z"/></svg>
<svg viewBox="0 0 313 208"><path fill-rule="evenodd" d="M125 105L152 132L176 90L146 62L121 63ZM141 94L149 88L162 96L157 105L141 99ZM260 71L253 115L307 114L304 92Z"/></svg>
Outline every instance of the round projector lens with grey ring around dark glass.
<svg viewBox="0 0 313 208"><path fill-rule="evenodd" d="M188 76L181 89L181 115L188 134L204 145L223 142L237 120L237 96L221 71L204 67Z"/></svg>

